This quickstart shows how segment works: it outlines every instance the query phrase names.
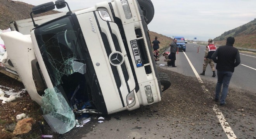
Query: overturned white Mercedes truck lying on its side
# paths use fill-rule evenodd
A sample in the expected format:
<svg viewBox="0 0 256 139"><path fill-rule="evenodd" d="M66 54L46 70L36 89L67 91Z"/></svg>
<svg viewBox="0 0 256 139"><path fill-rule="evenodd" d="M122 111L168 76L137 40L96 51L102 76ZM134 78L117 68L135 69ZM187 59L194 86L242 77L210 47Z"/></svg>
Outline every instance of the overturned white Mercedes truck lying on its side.
<svg viewBox="0 0 256 139"><path fill-rule="evenodd" d="M69 12L43 24L33 18L66 6ZM32 8L30 35L1 37L45 120L64 134L83 113L112 114L161 100L171 82L152 55L147 24L153 16L150 0L112 0L76 12L57 0Z"/></svg>

